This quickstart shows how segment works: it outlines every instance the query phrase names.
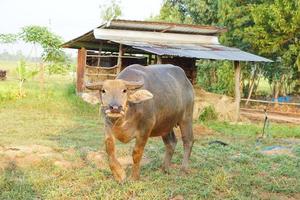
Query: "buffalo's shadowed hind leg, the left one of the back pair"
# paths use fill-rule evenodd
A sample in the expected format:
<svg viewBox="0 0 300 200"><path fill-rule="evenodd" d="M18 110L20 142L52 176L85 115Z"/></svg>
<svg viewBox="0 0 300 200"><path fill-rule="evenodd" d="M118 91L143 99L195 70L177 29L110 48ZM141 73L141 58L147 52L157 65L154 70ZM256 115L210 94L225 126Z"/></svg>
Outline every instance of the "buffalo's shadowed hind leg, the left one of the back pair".
<svg viewBox="0 0 300 200"><path fill-rule="evenodd" d="M165 157L162 165L162 170L164 172L167 172L170 167L171 159L175 151L177 139L173 130L170 133L162 136L162 139L166 146L166 152L165 152Z"/></svg>

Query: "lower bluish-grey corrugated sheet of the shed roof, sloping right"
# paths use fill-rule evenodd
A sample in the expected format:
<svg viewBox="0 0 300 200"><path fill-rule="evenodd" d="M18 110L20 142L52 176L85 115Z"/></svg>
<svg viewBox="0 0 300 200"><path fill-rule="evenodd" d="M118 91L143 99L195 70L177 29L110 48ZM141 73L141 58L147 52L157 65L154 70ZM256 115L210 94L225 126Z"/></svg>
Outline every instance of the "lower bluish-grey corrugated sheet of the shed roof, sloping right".
<svg viewBox="0 0 300 200"><path fill-rule="evenodd" d="M270 59L257 56L237 48L225 47L222 45L180 45L180 44L150 44L130 41L114 41L133 48L147 51L157 55L171 55L198 59L214 60L239 60L239 61L256 61L256 62L273 62Z"/></svg>

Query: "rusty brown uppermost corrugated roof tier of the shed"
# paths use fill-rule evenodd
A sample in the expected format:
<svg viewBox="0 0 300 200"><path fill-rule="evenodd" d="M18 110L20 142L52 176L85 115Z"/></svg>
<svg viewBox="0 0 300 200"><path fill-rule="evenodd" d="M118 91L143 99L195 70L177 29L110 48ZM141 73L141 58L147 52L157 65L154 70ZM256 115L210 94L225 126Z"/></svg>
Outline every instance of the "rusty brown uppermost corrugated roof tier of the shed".
<svg viewBox="0 0 300 200"><path fill-rule="evenodd" d="M168 23L168 22L135 21L135 20L112 20L102 28L169 32L169 33L202 34L202 35L216 35L218 33L226 31L225 28L220 28L216 26L201 26L201 25L193 25L193 24L178 24L178 23Z"/></svg>

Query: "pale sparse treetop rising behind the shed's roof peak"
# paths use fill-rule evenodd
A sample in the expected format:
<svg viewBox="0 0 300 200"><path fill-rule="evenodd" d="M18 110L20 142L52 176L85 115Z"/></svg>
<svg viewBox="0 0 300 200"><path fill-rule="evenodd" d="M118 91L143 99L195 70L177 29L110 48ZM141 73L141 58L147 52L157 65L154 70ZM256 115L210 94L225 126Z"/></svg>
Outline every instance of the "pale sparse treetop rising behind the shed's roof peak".
<svg viewBox="0 0 300 200"><path fill-rule="evenodd" d="M107 22L120 17L122 10L119 4L119 0L105 1L102 3L102 5L100 5L102 21Z"/></svg>

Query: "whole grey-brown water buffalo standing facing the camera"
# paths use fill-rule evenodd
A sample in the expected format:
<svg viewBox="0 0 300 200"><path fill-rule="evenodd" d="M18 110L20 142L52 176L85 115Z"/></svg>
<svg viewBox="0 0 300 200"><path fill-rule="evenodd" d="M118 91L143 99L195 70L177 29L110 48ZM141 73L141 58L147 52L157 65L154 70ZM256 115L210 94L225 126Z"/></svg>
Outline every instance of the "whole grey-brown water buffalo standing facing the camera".
<svg viewBox="0 0 300 200"><path fill-rule="evenodd" d="M109 166L119 182L126 178L115 154L115 138L136 139L132 153L132 179L140 176L140 161L149 137L161 136L166 146L162 168L167 170L177 143L179 126L184 146L182 169L187 170L193 146L193 87L185 72L174 65L131 65L115 80L86 84L100 91Z"/></svg>

